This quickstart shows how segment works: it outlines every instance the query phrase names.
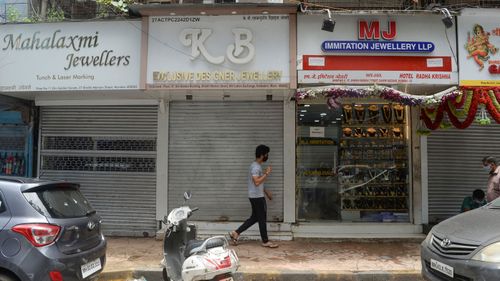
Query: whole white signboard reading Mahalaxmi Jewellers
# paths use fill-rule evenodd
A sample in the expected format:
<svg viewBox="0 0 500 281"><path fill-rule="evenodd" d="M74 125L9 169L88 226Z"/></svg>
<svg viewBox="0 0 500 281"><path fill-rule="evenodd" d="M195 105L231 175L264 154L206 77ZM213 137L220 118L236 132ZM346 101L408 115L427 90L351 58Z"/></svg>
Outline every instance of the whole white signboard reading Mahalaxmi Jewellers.
<svg viewBox="0 0 500 281"><path fill-rule="evenodd" d="M0 28L0 92L138 89L141 23Z"/></svg>

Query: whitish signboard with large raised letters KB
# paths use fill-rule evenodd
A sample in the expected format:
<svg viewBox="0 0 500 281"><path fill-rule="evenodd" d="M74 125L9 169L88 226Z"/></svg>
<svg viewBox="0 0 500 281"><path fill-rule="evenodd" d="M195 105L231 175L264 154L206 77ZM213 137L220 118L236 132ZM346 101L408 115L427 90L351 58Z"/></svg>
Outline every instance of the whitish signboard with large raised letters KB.
<svg viewBox="0 0 500 281"><path fill-rule="evenodd" d="M148 44L149 89L289 87L289 15L151 17L149 32L168 38Z"/></svg>

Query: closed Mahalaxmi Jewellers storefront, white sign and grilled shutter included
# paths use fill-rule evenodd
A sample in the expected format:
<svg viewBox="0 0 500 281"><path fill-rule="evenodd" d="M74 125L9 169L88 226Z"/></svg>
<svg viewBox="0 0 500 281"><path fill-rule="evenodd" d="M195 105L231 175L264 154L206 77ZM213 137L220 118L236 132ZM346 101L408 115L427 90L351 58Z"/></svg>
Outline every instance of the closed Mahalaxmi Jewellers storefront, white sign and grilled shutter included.
<svg viewBox="0 0 500 281"><path fill-rule="evenodd" d="M0 87L38 106L35 175L81 183L111 235L154 235L158 101L141 22L2 26ZM126 36L125 36L126 35Z"/></svg>

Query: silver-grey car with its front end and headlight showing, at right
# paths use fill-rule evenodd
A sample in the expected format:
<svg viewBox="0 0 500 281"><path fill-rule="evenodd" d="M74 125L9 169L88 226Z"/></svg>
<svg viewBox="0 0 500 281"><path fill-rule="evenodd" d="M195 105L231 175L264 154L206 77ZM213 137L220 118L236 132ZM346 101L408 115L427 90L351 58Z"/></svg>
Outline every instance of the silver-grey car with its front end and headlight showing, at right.
<svg viewBox="0 0 500 281"><path fill-rule="evenodd" d="M500 199L434 226L420 249L426 280L500 280Z"/></svg>

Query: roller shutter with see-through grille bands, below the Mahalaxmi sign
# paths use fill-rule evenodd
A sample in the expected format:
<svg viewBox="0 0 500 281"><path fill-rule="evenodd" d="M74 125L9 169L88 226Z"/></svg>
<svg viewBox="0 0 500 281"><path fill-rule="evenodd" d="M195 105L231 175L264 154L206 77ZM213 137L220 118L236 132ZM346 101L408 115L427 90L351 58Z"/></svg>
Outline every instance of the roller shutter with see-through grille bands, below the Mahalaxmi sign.
<svg viewBox="0 0 500 281"><path fill-rule="evenodd" d="M157 106L47 106L40 175L76 181L107 235L157 230Z"/></svg>

